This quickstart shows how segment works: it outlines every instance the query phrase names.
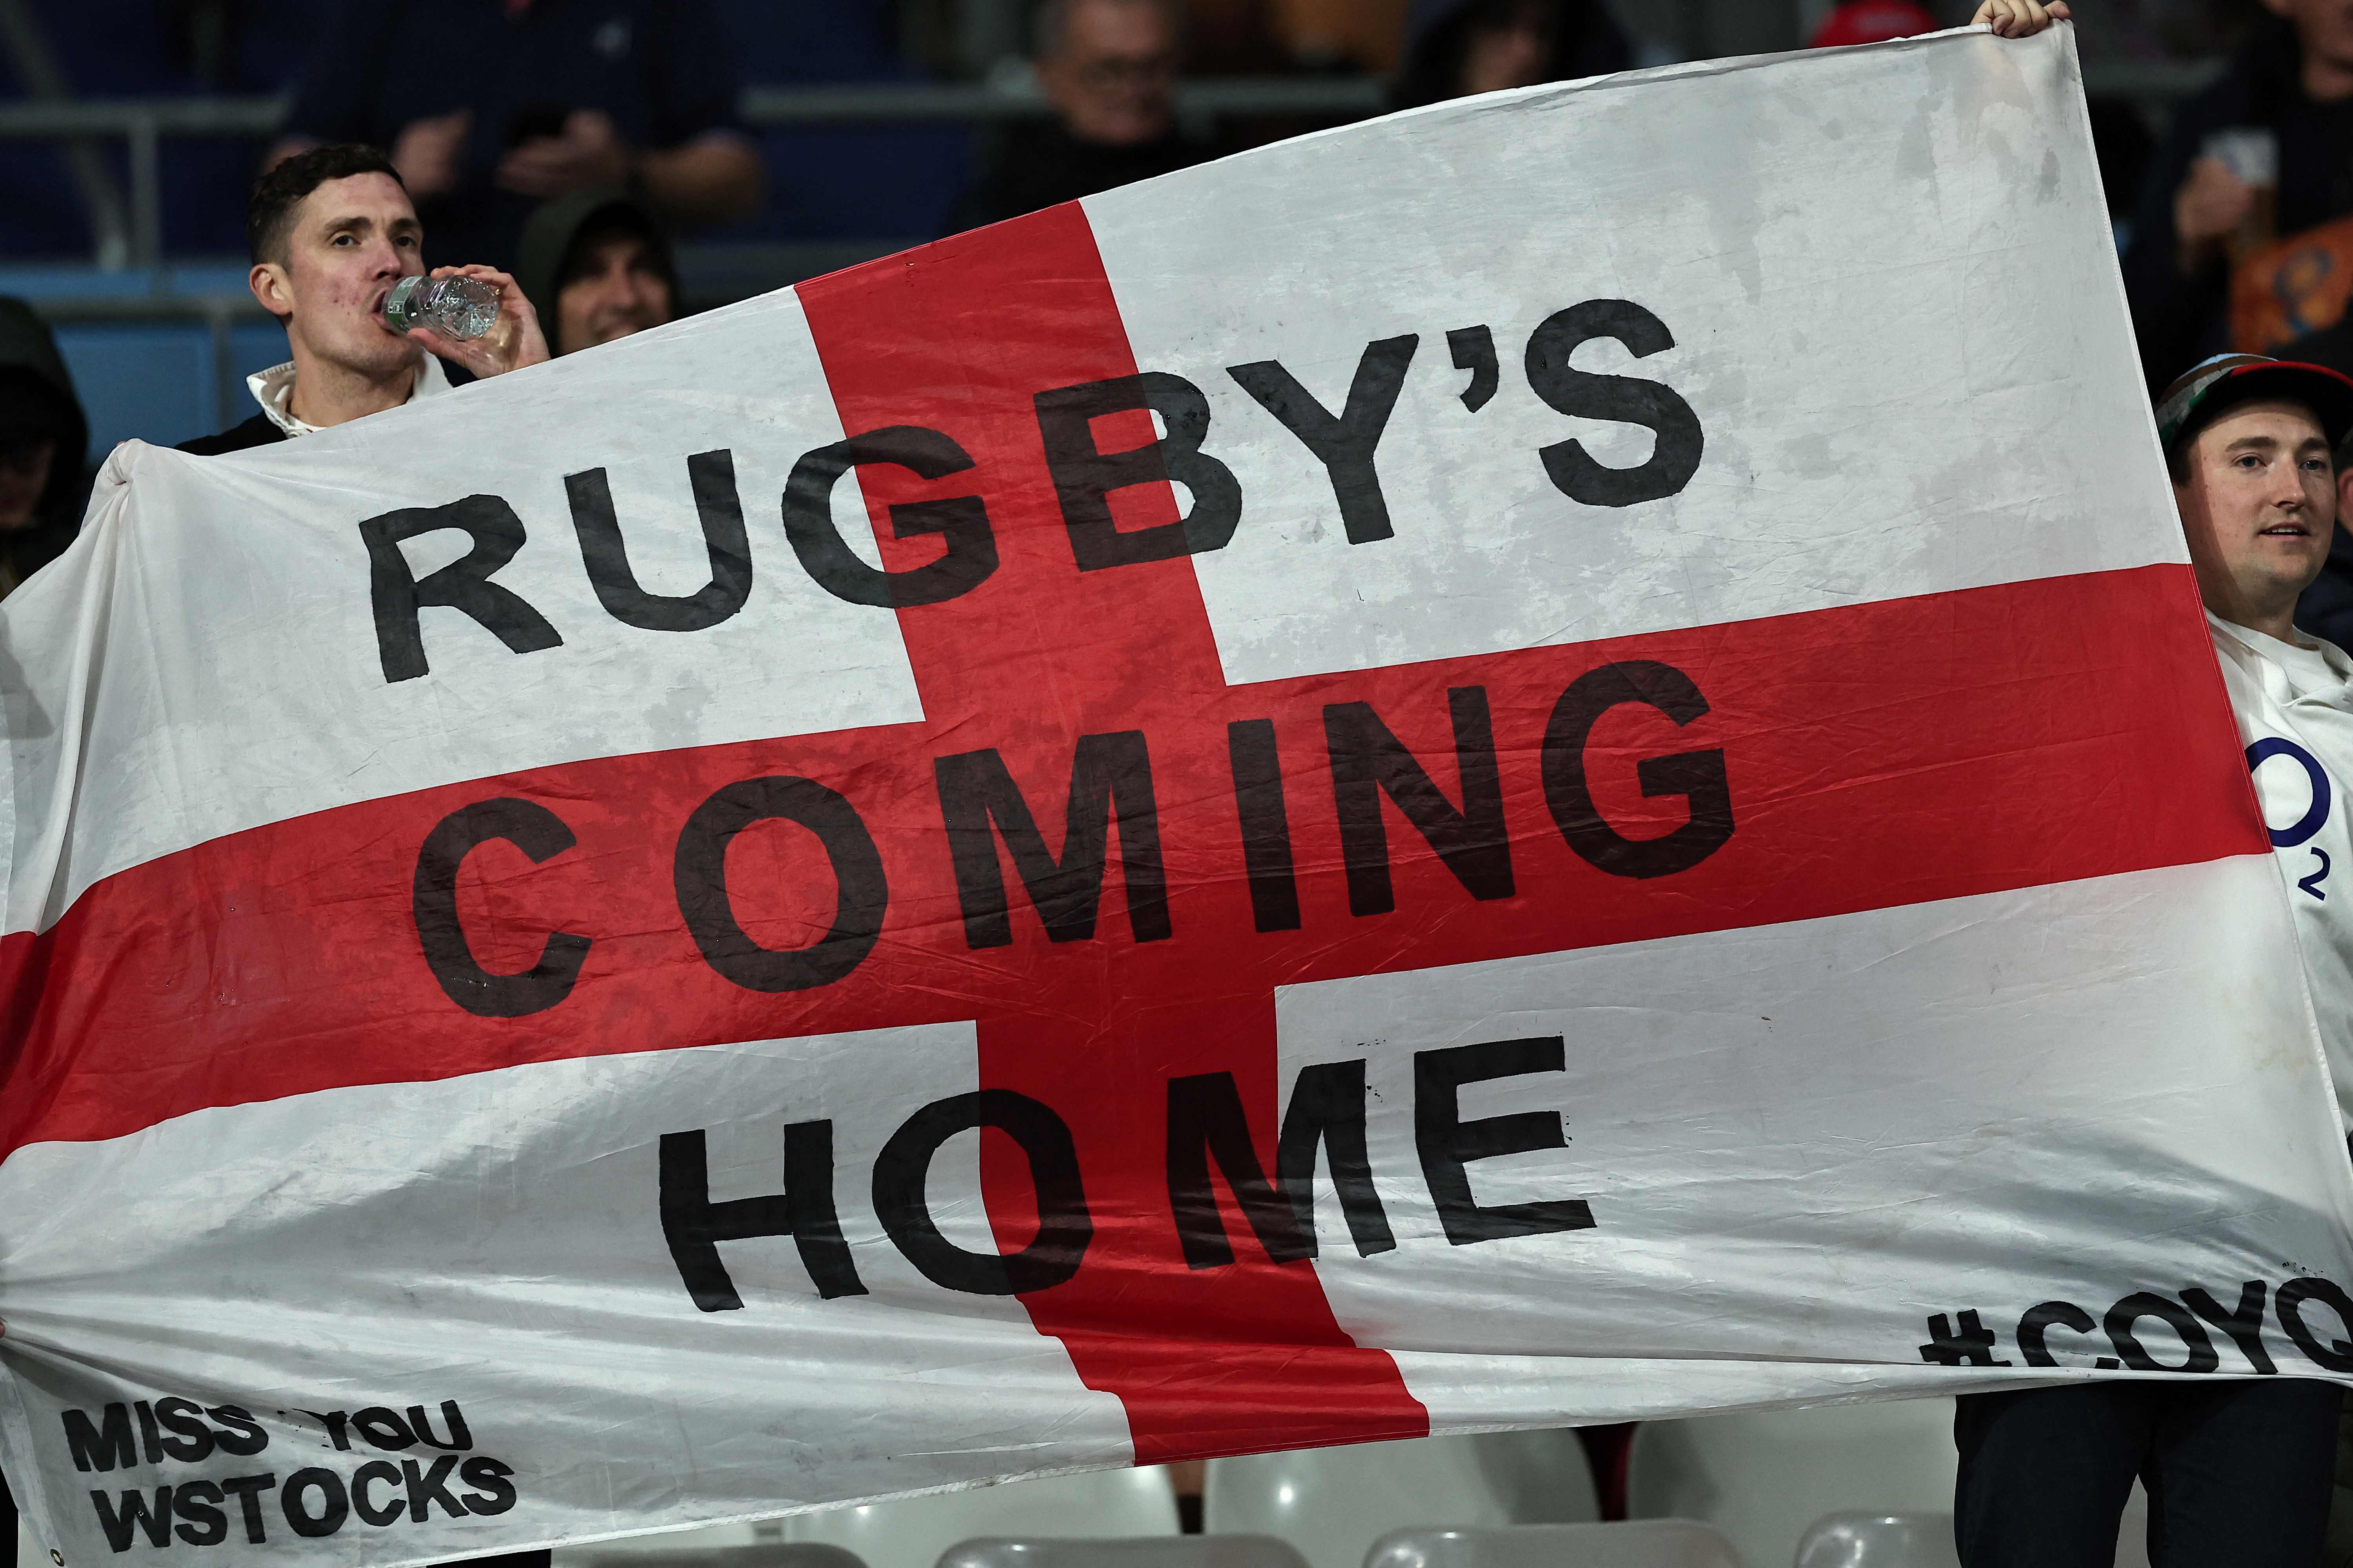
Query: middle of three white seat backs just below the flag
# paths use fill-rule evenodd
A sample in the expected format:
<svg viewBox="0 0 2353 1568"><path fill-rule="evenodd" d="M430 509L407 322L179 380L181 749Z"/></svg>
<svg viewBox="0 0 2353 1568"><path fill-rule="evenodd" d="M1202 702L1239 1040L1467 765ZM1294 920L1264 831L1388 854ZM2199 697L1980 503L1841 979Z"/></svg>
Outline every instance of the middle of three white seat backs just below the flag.
<svg viewBox="0 0 2353 1568"><path fill-rule="evenodd" d="M1421 1436L1209 1460L1212 1535L1275 1535L1313 1568L1358 1568L1407 1526L1584 1523L1600 1519L1574 1432Z"/></svg>

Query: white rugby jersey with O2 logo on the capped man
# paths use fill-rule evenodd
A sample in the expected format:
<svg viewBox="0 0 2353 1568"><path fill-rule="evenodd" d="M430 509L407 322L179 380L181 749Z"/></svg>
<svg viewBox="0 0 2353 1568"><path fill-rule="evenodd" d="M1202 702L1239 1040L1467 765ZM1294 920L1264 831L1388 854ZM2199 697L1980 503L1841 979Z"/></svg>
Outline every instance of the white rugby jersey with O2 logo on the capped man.
<svg viewBox="0 0 2353 1568"><path fill-rule="evenodd" d="M2271 853L2297 912L2304 978L2337 1079L2337 1114L2353 1131L2353 656L2297 632L2280 642L2207 614L2221 679L2247 743Z"/></svg>

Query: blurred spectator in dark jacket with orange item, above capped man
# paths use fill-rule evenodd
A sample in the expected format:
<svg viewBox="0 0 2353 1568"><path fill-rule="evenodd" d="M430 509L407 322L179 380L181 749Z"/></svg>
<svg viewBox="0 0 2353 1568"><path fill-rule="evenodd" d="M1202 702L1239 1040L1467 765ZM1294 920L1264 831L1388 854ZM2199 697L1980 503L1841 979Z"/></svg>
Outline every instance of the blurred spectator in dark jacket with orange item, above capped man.
<svg viewBox="0 0 2353 1568"><path fill-rule="evenodd" d="M2353 289L2353 223L2334 223L2353 214L2353 0L2264 5L2141 188L2125 292L2151 388L2228 348L2287 353Z"/></svg>

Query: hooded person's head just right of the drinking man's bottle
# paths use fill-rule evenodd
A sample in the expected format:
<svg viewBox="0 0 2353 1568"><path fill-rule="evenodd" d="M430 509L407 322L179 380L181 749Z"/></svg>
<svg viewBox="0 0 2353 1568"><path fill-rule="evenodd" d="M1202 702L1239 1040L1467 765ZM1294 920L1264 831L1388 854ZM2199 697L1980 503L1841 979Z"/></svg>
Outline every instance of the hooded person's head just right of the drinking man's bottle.
<svg viewBox="0 0 2353 1568"><path fill-rule="evenodd" d="M619 190L560 195L539 207L522 226L515 282L558 355L678 317L671 237Z"/></svg>

